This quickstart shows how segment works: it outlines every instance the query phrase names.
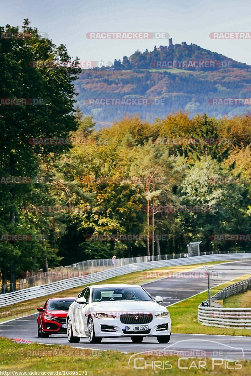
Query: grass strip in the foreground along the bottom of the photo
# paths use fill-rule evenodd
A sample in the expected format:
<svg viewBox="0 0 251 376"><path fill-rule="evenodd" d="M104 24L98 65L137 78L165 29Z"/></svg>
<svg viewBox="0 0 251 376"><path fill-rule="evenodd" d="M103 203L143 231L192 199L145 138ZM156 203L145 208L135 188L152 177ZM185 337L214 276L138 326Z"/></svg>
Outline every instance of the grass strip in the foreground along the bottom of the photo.
<svg viewBox="0 0 251 376"><path fill-rule="evenodd" d="M238 362L241 369L225 369L225 365L219 365L212 369L212 360L203 359L206 362L205 369L196 369L202 359L183 359L181 367L178 368L178 357L170 356L144 356L144 360L136 362L137 367L145 366L145 361L149 365L146 369L135 369L133 362L128 365L131 354L117 351L98 351L90 349L73 348L59 345L43 344L17 344L7 338L0 338L0 371L26 372L46 372L64 371L62 375L87 375L87 376L150 376L158 374L180 376L180 375L221 375L221 376L248 376L251 374L251 362ZM141 355L142 356L142 355ZM156 362L158 364L156 368ZM152 363L153 362L153 363ZM166 367L166 363L171 365L170 369L160 369ZM155 368L154 368L155 366ZM190 367L190 369L189 369ZM230 364L233 367L233 363ZM238 367L240 367L238 365ZM78 371L78 373L76 373ZM70 373L71 372L71 373ZM3 373L2 373L3 374ZM6 374L6 373L5 373Z"/></svg>

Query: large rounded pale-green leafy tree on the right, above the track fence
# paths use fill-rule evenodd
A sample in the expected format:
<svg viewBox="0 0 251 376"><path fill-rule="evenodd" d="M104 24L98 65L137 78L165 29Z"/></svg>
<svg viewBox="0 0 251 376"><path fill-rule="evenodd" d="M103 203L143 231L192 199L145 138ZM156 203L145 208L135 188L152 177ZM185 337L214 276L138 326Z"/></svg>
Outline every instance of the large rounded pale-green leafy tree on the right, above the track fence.
<svg viewBox="0 0 251 376"><path fill-rule="evenodd" d="M210 240L211 234L249 231L248 220L243 217L248 202L245 188L238 184L219 183L214 179L217 176L231 176L231 171L215 159L203 156L190 168L179 189L182 205L205 208L204 212L178 213L177 220L186 242L202 240L207 251L212 245L224 249L224 244Z"/></svg>

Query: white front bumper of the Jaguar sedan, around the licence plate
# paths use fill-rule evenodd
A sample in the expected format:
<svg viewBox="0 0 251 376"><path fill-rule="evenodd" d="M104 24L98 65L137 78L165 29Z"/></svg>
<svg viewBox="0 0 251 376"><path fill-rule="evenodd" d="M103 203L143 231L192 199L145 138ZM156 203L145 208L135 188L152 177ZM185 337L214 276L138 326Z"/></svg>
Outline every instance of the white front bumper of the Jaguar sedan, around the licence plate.
<svg viewBox="0 0 251 376"><path fill-rule="evenodd" d="M96 337L132 337L132 336L161 336L171 334L171 320L170 317L157 318L153 317L150 323L146 324L123 324L119 317L114 319L93 318L94 330ZM166 328L158 328L159 325L167 324ZM141 332L126 332L126 326L148 326L148 331ZM110 326L110 328L106 327ZM159 329L159 330L158 330Z"/></svg>

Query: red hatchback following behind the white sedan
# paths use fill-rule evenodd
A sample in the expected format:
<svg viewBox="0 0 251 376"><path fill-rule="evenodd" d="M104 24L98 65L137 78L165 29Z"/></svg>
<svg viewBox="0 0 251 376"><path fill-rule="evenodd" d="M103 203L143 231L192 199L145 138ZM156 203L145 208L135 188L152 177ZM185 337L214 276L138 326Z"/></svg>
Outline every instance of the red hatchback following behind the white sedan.
<svg viewBox="0 0 251 376"><path fill-rule="evenodd" d="M38 337L49 337L50 334L66 334L66 316L69 306L76 298L50 298L43 307L37 308Z"/></svg>

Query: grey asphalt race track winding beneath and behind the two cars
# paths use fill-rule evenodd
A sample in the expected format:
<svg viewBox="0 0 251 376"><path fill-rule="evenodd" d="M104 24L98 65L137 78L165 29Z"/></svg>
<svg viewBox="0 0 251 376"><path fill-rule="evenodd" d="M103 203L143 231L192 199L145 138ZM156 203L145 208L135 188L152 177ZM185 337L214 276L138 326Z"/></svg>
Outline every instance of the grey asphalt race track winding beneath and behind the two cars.
<svg viewBox="0 0 251 376"><path fill-rule="evenodd" d="M198 268L194 271L204 271ZM212 279L212 285L221 284L224 281L235 279L243 274L250 273L251 260L221 263L213 266L216 278ZM218 273L217 273L218 272ZM190 273L192 276L193 274ZM197 274L198 275L198 274ZM162 296L163 305L169 306L183 299L196 295L207 289L207 278L184 277L180 275L167 277L154 282L142 284L152 296ZM182 318L181 318L182 320ZM189 323L188 323L189 324ZM90 344L88 338L81 338L80 343L68 343L66 335L51 335L49 338L37 337L37 314L29 317L21 317L0 324L0 335L8 338L21 338L37 343L60 344L77 348L91 348L97 350L118 350L122 352L144 352L150 350L182 351L189 350L207 352L208 357L222 357L226 359L251 359L250 337L199 335L199 334L172 334L168 344L160 344L156 338L146 337L140 344L133 344L130 338L107 338L101 344ZM178 343L177 343L178 342ZM243 349L243 350L241 350ZM221 355L221 356L220 356ZM189 357L189 355L188 355Z"/></svg>

